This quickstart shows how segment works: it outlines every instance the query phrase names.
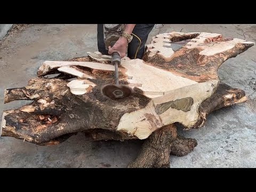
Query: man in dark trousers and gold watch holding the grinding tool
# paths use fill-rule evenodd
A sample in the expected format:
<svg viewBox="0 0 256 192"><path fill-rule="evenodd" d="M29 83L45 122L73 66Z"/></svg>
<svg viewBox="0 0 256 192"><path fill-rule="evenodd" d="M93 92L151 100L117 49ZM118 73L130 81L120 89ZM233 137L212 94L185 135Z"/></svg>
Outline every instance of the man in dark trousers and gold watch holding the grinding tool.
<svg viewBox="0 0 256 192"><path fill-rule="evenodd" d="M98 50L102 54L110 55L113 52L118 52L121 58L125 57L127 50L127 57L130 59L142 59L145 51L145 44L148 39L148 34L154 28L154 26L155 24L125 24L124 32L127 34L127 36L133 36L132 41L129 43L129 38L127 38L127 36L121 36L113 47L108 47L109 50L106 50L103 35L103 24L98 24ZM139 45L140 47L138 50Z"/></svg>

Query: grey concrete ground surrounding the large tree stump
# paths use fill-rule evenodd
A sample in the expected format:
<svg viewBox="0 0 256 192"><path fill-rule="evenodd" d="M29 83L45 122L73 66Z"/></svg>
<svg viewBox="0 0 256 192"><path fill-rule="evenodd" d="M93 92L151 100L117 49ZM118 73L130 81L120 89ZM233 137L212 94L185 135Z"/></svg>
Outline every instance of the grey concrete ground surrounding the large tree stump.
<svg viewBox="0 0 256 192"><path fill-rule="evenodd" d="M170 31L212 32L256 42L256 25L158 25L150 34ZM6 88L26 86L45 60L65 60L97 51L96 25L30 25L5 38L0 50L0 111L26 101L3 105ZM179 133L198 146L187 156L171 156L171 167L256 167L256 45L219 68L221 81L243 89L249 100L215 111L204 127ZM89 142L77 134L58 146L36 146L0 138L0 167L126 167L141 141Z"/></svg>

